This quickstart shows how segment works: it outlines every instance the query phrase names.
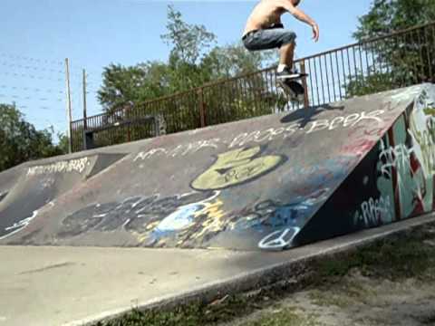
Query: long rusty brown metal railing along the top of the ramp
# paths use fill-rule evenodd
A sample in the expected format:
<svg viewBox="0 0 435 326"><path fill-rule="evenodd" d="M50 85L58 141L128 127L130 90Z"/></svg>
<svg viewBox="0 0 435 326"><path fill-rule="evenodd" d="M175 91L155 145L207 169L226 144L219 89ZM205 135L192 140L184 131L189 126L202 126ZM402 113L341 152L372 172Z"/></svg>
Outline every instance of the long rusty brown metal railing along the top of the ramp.
<svg viewBox="0 0 435 326"><path fill-rule="evenodd" d="M73 150L83 149L84 135L90 130L95 146L105 146L435 82L435 23L317 53L296 60L295 65L308 73L302 81L306 90L303 104L289 101L277 85L275 67L271 67L75 120ZM122 123L149 116L159 120L158 133L147 124Z"/></svg>

